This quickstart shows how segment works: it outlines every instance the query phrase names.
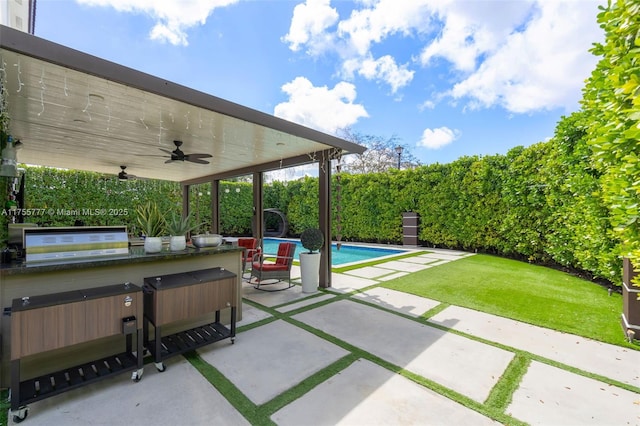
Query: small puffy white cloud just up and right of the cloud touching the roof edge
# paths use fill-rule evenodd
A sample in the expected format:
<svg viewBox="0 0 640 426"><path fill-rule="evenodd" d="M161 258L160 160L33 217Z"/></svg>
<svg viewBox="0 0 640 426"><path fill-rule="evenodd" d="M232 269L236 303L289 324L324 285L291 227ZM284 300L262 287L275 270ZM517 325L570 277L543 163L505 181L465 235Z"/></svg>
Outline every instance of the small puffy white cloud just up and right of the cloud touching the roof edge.
<svg viewBox="0 0 640 426"><path fill-rule="evenodd" d="M353 77L354 73L358 73L367 80L384 81L391 86L391 93L396 93L398 89L409 84L414 74L407 65L398 66L390 55L378 59L372 57L349 59L343 63L342 70L349 78Z"/></svg>

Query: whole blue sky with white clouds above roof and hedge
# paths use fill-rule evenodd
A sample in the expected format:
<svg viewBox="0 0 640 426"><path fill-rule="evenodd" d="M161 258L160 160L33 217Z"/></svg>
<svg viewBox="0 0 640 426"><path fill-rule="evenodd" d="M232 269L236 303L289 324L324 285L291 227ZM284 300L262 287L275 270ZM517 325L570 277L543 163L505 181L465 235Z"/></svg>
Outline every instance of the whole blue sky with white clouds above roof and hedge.
<svg viewBox="0 0 640 426"><path fill-rule="evenodd" d="M423 163L506 153L579 108L591 0L40 0L35 35Z"/></svg>

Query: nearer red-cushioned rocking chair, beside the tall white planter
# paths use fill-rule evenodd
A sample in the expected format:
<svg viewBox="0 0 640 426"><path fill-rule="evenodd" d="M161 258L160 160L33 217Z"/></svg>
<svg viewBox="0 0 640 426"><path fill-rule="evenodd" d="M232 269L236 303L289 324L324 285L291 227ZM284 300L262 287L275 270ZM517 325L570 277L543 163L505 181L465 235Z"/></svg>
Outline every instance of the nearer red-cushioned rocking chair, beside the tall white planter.
<svg viewBox="0 0 640 426"><path fill-rule="evenodd" d="M277 254L257 253L251 262L251 277L249 282L255 277L257 279L254 288L264 291L280 291L293 287L291 284L291 265L293 264L293 255L296 251L295 243L280 243L278 245ZM265 280L276 280L275 282L263 283ZM261 286L277 284L287 280L288 287L278 288L274 290L266 290Z"/></svg>

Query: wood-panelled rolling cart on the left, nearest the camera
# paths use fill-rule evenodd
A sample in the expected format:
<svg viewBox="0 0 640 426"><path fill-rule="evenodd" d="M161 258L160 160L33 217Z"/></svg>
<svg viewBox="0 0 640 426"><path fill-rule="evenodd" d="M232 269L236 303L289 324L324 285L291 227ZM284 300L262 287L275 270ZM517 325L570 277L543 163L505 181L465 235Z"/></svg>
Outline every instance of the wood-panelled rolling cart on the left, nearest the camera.
<svg viewBox="0 0 640 426"><path fill-rule="evenodd" d="M28 403L116 374L133 371L131 379L139 381L143 373L143 333L138 324L143 313L142 303L142 289L130 283L14 299L11 306L13 421L18 423L27 417ZM28 380L20 379L20 362L25 357L115 335L125 337L125 352Z"/></svg>

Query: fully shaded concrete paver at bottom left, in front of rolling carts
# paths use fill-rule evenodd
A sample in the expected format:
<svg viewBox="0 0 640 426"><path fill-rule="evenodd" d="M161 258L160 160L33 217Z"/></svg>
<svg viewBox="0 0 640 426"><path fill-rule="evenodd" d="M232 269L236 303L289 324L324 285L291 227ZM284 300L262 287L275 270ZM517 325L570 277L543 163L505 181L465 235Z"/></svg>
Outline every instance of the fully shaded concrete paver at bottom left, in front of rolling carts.
<svg viewBox="0 0 640 426"><path fill-rule="evenodd" d="M29 405L25 426L247 425L249 422L182 357L139 383L122 374ZM7 424L7 423L5 423ZM9 416L9 424L14 424Z"/></svg>

